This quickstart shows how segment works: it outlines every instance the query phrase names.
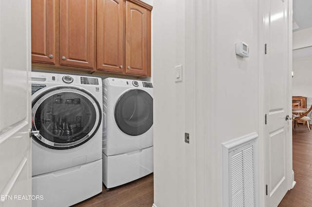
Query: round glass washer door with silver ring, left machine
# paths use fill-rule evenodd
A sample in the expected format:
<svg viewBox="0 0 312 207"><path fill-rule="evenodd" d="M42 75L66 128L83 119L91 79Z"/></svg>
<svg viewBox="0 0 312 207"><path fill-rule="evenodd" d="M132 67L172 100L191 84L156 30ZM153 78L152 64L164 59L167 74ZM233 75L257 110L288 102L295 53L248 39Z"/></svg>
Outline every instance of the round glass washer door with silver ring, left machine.
<svg viewBox="0 0 312 207"><path fill-rule="evenodd" d="M87 91L58 87L32 103L33 139L52 149L77 147L94 136L101 122L98 101Z"/></svg>

